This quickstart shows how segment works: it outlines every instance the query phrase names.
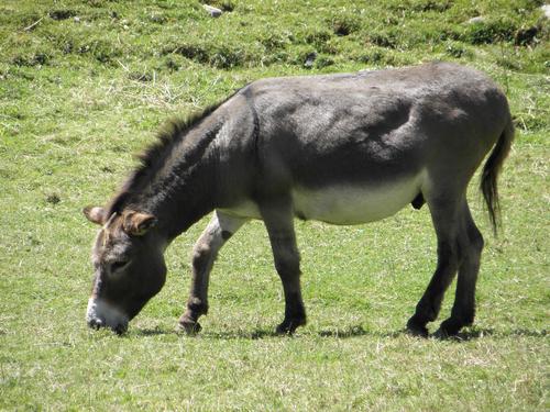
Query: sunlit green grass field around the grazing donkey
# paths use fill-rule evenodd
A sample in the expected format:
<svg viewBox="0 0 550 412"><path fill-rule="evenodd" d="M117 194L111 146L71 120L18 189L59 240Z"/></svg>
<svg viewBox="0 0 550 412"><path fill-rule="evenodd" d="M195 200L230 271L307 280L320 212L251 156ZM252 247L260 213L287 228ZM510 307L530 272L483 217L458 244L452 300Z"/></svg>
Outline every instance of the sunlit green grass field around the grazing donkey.
<svg viewBox="0 0 550 412"><path fill-rule="evenodd" d="M548 411L542 1L211 3L221 18L191 0L0 3L0 410ZM471 187L486 248L460 339L403 332L436 263L426 208L361 226L297 222L309 323L293 337L272 333L283 296L261 222L222 249L200 335L175 326L206 221L168 248L166 286L125 335L88 330L96 227L80 210L108 201L167 118L266 76L433 59L486 71L517 127L498 237Z"/></svg>

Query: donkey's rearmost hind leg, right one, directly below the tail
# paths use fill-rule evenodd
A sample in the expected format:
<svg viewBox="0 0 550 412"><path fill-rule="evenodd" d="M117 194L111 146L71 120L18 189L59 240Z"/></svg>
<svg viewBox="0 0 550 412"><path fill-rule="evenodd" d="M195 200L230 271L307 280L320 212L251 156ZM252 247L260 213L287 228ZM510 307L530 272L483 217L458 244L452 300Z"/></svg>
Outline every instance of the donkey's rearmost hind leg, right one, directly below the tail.
<svg viewBox="0 0 550 412"><path fill-rule="evenodd" d="M460 267L451 318L441 323L436 333L439 337L452 336L469 326L475 315L475 283L480 271L483 236L475 226L468 203L462 208L462 225L459 236Z"/></svg>

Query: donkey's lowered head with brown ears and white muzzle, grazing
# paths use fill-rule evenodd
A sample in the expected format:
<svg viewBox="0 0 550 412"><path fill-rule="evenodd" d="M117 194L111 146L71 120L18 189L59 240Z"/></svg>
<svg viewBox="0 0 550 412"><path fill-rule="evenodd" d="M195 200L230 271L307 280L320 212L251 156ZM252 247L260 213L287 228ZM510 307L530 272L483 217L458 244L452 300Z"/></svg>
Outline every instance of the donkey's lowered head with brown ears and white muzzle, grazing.
<svg viewBox="0 0 550 412"><path fill-rule="evenodd" d="M95 278L86 321L90 327L122 333L164 285L165 245L148 213L108 215L103 208L86 208L84 214L101 225L91 255Z"/></svg>

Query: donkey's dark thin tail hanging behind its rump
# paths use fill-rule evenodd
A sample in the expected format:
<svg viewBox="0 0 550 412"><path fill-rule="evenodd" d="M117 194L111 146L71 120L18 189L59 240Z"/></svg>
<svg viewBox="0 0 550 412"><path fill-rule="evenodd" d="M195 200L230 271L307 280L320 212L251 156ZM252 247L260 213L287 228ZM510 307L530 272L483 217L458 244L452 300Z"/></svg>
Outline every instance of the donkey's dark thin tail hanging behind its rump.
<svg viewBox="0 0 550 412"><path fill-rule="evenodd" d="M481 176L480 189L483 193L483 198L485 199L488 218L495 235L501 223L501 204L498 202L497 179L503 167L503 163L510 152L513 141L514 124L512 123L512 118L508 118L506 127L501 134L501 137L498 137L498 141L496 142L493 152L491 152L487 162L485 162Z"/></svg>

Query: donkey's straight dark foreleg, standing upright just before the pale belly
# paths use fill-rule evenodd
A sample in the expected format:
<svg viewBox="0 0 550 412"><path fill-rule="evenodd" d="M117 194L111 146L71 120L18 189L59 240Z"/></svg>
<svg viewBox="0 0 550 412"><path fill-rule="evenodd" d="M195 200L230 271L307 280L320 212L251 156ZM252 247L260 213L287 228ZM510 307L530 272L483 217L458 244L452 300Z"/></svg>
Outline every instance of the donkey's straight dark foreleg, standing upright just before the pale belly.
<svg viewBox="0 0 550 412"><path fill-rule="evenodd" d="M300 255L296 246L294 219L288 203L272 203L262 208L270 242L275 259L275 268L283 281L285 293L285 319L276 332L292 334L296 327L306 324L306 310L301 300Z"/></svg>

